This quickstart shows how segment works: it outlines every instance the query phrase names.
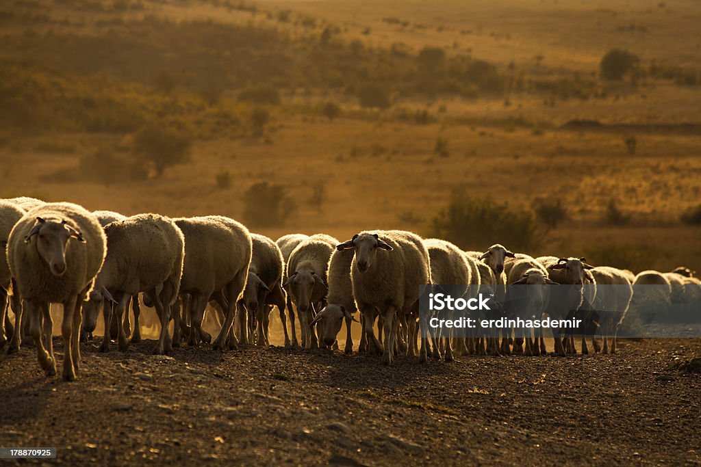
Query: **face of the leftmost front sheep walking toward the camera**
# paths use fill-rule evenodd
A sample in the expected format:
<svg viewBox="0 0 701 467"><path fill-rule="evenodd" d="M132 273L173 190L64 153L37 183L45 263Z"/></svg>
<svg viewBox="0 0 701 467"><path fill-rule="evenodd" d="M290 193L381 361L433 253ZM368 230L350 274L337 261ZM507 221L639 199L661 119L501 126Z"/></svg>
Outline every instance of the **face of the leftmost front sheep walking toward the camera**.
<svg viewBox="0 0 701 467"><path fill-rule="evenodd" d="M29 231L25 243L31 242L32 237L36 237L36 251L55 276L62 276L66 272L68 240L74 238L85 242L83 235L66 221L45 221L41 217L36 218L36 224Z"/></svg>

